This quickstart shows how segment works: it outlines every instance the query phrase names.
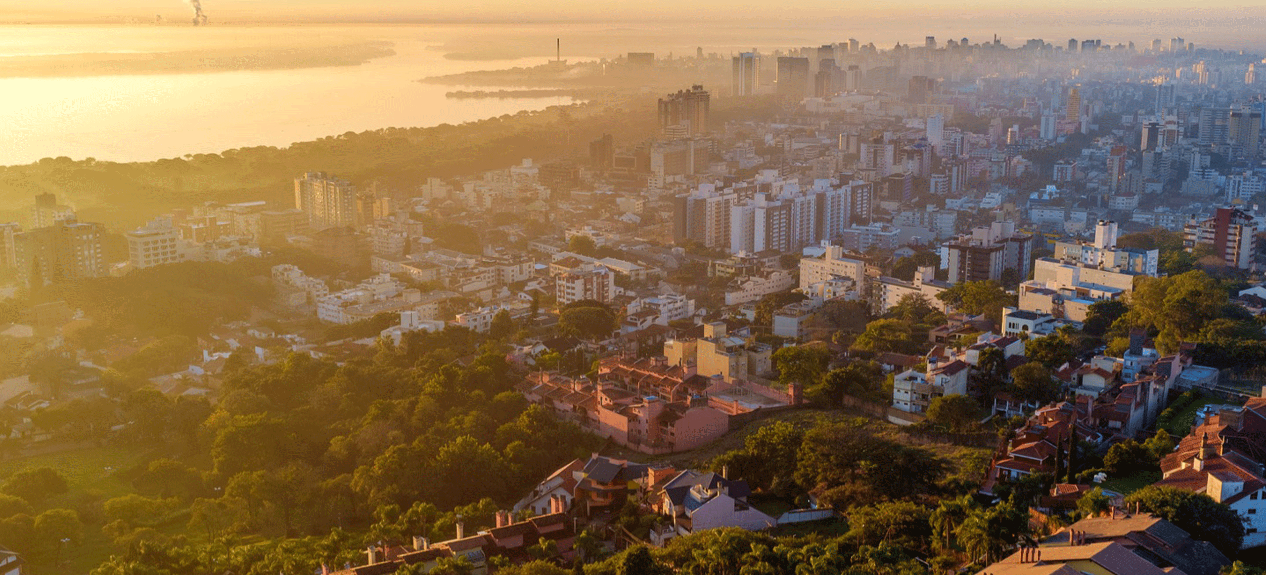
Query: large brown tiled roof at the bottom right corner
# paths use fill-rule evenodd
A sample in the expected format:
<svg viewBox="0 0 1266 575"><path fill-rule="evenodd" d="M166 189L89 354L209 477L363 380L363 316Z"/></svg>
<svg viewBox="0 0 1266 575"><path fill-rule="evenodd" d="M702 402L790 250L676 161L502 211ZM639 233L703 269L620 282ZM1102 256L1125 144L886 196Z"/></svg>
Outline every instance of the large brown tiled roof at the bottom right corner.
<svg viewBox="0 0 1266 575"><path fill-rule="evenodd" d="M1087 487L1089 485L1084 485ZM1042 540L1042 547L1117 542L1161 569L1180 569L1188 575L1218 575L1229 565L1222 551L1208 541L1196 541L1186 531L1147 513L1114 512L1089 517Z"/></svg>

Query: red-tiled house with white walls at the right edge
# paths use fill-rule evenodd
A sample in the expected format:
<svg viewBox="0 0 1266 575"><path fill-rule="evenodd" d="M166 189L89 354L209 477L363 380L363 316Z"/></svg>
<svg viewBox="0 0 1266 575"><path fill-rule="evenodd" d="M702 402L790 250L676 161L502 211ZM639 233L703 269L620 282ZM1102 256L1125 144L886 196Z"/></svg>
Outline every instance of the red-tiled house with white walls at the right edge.
<svg viewBox="0 0 1266 575"><path fill-rule="evenodd" d="M1266 545L1266 398L1223 408L1161 459L1167 485L1204 493L1244 518L1244 548Z"/></svg>

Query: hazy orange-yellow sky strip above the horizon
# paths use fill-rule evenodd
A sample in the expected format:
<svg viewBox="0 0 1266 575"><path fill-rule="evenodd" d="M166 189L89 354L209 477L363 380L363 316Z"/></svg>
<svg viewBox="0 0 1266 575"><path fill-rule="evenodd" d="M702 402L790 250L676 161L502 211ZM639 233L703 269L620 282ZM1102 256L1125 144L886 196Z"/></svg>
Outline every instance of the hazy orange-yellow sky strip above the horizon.
<svg viewBox="0 0 1266 575"><path fill-rule="evenodd" d="M879 19L893 23L1062 20L1091 23L1104 18L1227 21L1251 25L1266 15L1261 0L905 0L900 3L842 0L203 0L213 20L589 20L660 21L674 18L724 18L758 21L805 15L820 19ZM168 19L189 13L182 0L0 0L0 19L6 21L97 20L118 21L127 16L163 14ZM1261 20L1257 20L1258 23Z"/></svg>

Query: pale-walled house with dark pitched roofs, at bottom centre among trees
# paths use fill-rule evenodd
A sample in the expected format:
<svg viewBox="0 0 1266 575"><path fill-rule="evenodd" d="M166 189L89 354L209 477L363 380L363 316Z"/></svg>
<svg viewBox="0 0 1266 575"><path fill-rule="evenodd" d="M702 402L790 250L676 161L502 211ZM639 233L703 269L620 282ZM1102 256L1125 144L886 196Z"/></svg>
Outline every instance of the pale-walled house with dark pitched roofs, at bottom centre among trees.
<svg viewBox="0 0 1266 575"><path fill-rule="evenodd" d="M777 519L747 502L747 481L715 473L685 470L657 488L653 508L671 523L651 531L651 541L670 540L703 530L739 527L757 531L777 526Z"/></svg>

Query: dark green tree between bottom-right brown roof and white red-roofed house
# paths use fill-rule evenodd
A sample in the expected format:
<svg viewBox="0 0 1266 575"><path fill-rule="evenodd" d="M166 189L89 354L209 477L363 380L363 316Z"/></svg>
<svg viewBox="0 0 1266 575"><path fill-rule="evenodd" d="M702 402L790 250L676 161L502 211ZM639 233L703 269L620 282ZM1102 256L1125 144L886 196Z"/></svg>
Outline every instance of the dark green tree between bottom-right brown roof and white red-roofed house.
<svg viewBox="0 0 1266 575"><path fill-rule="evenodd" d="M1244 523L1231 507L1203 493L1191 493L1167 485L1147 485L1125 497L1125 508L1157 516L1208 541L1224 554L1239 550L1244 540Z"/></svg>

